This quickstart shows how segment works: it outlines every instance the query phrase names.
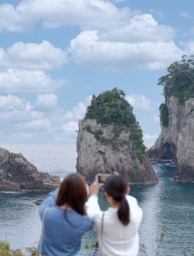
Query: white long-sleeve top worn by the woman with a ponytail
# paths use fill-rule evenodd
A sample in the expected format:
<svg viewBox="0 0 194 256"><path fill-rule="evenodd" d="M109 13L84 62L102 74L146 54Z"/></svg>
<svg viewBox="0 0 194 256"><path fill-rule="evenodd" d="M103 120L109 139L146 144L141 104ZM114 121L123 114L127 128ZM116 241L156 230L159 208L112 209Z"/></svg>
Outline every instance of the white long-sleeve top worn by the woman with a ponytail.
<svg viewBox="0 0 194 256"><path fill-rule="evenodd" d="M109 207L103 221L101 237L102 214L99 208L98 196L92 195L86 202L86 212L94 222L98 231L98 240L101 256L137 256L139 250L138 227L142 218L142 210L137 205L137 199L126 195L130 205L130 223L124 226L117 216L118 208ZM102 248L102 251L101 251Z"/></svg>

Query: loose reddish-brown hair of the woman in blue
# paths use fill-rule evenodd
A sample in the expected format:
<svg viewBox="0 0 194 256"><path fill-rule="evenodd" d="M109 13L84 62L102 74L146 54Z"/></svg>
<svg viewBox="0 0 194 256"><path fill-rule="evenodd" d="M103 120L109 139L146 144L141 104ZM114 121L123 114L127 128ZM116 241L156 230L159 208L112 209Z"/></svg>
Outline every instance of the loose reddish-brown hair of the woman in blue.
<svg viewBox="0 0 194 256"><path fill-rule="evenodd" d="M61 183L56 205L71 206L76 212L85 215L85 202L87 201L87 192L85 188L85 179L81 174L69 174ZM65 211L66 216L66 211Z"/></svg>

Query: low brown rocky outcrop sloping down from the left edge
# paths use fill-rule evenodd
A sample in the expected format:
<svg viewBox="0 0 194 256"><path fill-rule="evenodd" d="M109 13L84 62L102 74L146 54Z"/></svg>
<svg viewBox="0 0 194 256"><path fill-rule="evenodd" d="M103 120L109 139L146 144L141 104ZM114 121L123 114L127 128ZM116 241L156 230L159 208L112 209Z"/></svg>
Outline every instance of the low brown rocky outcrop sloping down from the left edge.
<svg viewBox="0 0 194 256"><path fill-rule="evenodd" d="M60 177L38 172L21 153L0 148L0 191L52 191L60 184Z"/></svg>

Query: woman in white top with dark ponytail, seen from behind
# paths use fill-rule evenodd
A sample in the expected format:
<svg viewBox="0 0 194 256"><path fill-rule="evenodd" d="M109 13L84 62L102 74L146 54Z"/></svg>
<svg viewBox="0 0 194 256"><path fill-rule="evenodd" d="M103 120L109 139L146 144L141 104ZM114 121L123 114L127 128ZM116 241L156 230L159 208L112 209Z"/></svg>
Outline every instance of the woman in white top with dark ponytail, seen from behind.
<svg viewBox="0 0 194 256"><path fill-rule="evenodd" d="M111 204L104 216L98 203L99 188L103 185L104 195ZM126 179L120 175L112 175L105 184L99 184L98 177L95 177L90 193L86 212L98 231L100 255L136 256L139 249L137 230L142 210L137 205L137 199L127 195L130 187L127 186Z"/></svg>

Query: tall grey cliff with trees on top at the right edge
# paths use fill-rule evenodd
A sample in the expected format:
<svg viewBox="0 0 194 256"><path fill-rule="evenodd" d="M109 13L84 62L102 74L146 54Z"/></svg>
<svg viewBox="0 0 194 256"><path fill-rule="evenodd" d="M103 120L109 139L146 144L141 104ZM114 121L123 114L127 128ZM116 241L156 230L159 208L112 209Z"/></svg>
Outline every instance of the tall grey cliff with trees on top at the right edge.
<svg viewBox="0 0 194 256"><path fill-rule="evenodd" d="M194 181L194 60L182 56L159 79L164 86L161 104L161 135L147 151L152 160L177 164L175 181Z"/></svg>

